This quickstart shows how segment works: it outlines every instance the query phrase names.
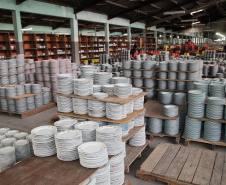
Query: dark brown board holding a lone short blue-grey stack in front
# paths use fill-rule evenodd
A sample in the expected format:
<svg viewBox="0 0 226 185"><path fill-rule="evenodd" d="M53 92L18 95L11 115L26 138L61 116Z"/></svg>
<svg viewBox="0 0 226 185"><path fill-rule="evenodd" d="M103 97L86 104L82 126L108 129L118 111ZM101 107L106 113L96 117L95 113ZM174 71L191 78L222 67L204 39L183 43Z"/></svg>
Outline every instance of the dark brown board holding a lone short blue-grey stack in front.
<svg viewBox="0 0 226 185"><path fill-rule="evenodd" d="M149 100L144 104L144 107L146 108L145 117L160 118L165 120L166 119L177 120L186 106L187 106L186 104L178 106L179 107L178 116L167 117L167 116L164 116L163 114L164 104L162 104L160 101Z"/></svg>

